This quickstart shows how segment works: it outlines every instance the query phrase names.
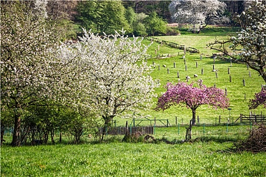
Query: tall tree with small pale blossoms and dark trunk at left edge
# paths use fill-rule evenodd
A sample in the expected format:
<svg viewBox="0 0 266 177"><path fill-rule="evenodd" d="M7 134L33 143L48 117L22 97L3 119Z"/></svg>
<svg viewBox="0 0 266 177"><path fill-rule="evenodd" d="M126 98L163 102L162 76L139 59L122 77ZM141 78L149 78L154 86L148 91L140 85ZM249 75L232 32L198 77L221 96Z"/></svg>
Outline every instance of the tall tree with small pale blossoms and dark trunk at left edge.
<svg viewBox="0 0 266 177"><path fill-rule="evenodd" d="M28 4L1 5L1 110L14 115L13 146L23 141L21 118L26 108L50 93L51 51L59 39L42 18L43 11L33 13Z"/></svg>

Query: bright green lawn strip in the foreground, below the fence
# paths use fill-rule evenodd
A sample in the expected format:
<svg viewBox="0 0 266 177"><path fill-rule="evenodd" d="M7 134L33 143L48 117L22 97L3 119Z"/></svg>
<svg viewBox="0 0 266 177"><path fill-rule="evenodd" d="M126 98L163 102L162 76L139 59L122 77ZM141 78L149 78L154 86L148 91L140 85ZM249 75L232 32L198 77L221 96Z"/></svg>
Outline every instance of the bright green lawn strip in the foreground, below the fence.
<svg viewBox="0 0 266 177"><path fill-rule="evenodd" d="M107 143L1 148L1 176L265 176L266 154L232 143Z"/></svg>

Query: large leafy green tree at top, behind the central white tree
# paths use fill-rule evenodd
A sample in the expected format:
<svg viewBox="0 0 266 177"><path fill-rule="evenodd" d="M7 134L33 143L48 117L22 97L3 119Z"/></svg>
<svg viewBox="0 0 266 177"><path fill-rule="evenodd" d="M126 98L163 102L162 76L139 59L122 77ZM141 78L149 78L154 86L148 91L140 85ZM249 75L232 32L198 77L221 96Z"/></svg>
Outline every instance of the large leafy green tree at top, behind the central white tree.
<svg viewBox="0 0 266 177"><path fill-rule="evenodd" d="M122 28L130 31L125 18L126 9L121 1L82 1L78 4L77 11L81 26L92 29L93 32L114 34L115 30Z"/></svg>

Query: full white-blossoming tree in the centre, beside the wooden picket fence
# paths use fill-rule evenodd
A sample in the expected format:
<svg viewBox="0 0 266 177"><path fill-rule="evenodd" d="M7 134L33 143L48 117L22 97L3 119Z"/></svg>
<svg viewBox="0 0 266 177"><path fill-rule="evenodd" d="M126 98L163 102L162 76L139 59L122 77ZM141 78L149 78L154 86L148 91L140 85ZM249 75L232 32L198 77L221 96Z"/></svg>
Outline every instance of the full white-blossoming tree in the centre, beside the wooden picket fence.
<svg viewBox="0 0 266 177"><path fill-rule="evenodd" d="M142 39L130 39L123 31L122 35L84 33L59 53L62 62L73 66L72 80L77 81L71 83L76 84L73 103L79 111L100 117L105 129L113 117L132 118L151 106L158 82L149 76L151 67L143 61L147 47L141 45Z"/></svg>

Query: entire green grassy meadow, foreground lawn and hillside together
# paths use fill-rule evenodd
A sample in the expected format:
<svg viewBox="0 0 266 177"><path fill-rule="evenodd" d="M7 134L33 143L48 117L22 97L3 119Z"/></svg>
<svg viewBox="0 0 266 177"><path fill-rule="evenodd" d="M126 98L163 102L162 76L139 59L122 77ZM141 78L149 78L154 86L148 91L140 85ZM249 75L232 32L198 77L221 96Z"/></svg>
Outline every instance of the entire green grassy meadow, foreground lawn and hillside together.
<svg viewBox="0 0 266 177"><path fill-rule="evenodd" d="M261 77L253 70L248 70L245 64L232 63L224 60L210 58L212 53L206 48L206 44L215 37L226 39L227 35L236 30L230 28L208 28L201 34L195 35L181 30L178 36L156 36L163 40L172 41L200 50L200 54L185 55L187 71L185 70L183 51L170 48L166 45L154 42L147 53L152 58L147 59L148 64L155 62L155 68L151 76L159 79L161 86L156 89L160 96L166 90L163 88L167 82L186 81L185 76L190 76L192 81L203 79L207 86L213 86L225 90L230 99L232 110L214 110L209 106L201 106L197 109L201 126L192 128L192 138L198 138L194 143L180 143L185 137L185 126L192 118L192 111L183 106L171 107L164 112L153 109L143 112L149 114L150 119L156 117L157 124L162 124L158 119L168 119L171 127L156 127L156 139L169 140L172 144L159 143L122 143L123 137L108 136L107 143L97 144L88 137L83 138L81 145L40 145L10 147L11 136L6 135L7 140L1 147L1 176L266 176L266 154L233 152L230 148L233 142L242 140L248 136L250 125L221 126L231 118L235 121L240 113L248 115L253 113L266 114L266 110L259 107L256 110L248 110L249 99L259 92L261 84L265 84ZM149 39L143 41L146 45ZM163 58L156 58L158 54L164 54ZM179 55L178 55L179 52ZM170 54L173 57L165 57ZM174 68L173 63L176 67ZM196 62L198 67L196 67ZM212 72L213 64L218 69L218 78ZM158 70L160 65L160 70ZM166 67L163 67L166 65ZM167 72L169 68L169 74ZM228 74L228 68L230 73ZM201 74L203 69L204 73ZM251 77L249 76L251 72ZM177 78L179 72L179 78ZM194 74L198 77L194 78ZM229 76L232 77L232 82ZM243 86L245 79L246 86ZM246 98L245 98L246 97ZM157 98L154 99L154 107ZM219 126L203 126L203 123L218 122ZM115 118L117 126L124 126L127 120ZM176 122L177 120L177 122ZM131 123L132 120L128 120ZM139 123L140 121L136 121ZM143 121L140 125L153 124L154 121ZM166 122L164 122L166 123ZM180 127L177 124L180 124ZM175 125L175 126L173 126ZM59 137L55 137L58 142Z"/></svg>

